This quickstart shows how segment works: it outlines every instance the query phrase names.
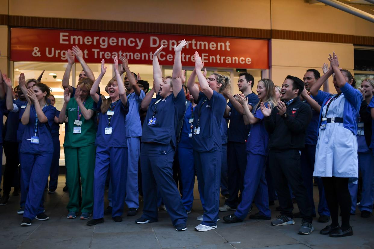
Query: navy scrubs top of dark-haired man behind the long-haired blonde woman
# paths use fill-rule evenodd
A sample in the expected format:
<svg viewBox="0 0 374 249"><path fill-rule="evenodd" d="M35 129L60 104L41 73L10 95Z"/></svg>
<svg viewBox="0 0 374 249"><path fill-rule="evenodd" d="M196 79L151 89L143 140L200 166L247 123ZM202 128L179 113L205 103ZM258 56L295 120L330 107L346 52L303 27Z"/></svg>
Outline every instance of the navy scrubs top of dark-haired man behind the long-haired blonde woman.
<svg viewBox="0 0 374 249"><path fill-rule="evenodd" d="M252 107L257 105L258 96L254 92L248 94L246 98L248 98L248 104ZM227 105L231 108L230 125L227 131L228 139L230 142L245 143L251 127L244 124L243 115L236 111L231 102Z"/></svg>

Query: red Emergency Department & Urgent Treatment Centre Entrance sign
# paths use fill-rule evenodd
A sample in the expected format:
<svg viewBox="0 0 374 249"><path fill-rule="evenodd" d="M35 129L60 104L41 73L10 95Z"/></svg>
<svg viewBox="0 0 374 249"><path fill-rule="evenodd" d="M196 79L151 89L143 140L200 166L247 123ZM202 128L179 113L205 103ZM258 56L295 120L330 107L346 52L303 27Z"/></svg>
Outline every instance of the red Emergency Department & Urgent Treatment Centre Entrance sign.
<svg viewBox="0 0 374 249"><path fill-rule="evenodd" d="M28 28L11 29L10 60L66 62L67 49L77 45L88 63L124 55L131 64L151 65L154 51L163 45L160 65L173 65L174 45L183 39L188 41L181 53L183 66L194 66L197 51L207 67L269 68L267 40Z"/></svg>

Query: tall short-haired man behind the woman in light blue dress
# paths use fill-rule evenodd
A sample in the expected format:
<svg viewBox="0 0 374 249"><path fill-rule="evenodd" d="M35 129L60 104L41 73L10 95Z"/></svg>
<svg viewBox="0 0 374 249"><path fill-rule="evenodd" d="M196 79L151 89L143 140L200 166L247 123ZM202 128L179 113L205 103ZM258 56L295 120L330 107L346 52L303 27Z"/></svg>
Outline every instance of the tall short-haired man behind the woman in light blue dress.
<svg viewBox="0 0 374 249"><path fill-rule="evenodd" d="M307 91L309 91L310 87L312 87L320 77L321 74L319 74L316 69L308 69L303 77L306 91L303 91L301 94L302 100L312 108L312 119L306 128L305 148L301 149L300 161L301 175L303 177L304 186L307 189L309 201L312 204L313 217L316 217L316 209L313 200L313 171L318 139L319 111L321 110L322 103L317 103L313 99L313 96L309 95ZM322 180L321 178L315 178L315 182L318 184L319 192L318 222L328 222L330 220L330 212L327 206ZM300 212L294 214L294 218L301 218Z"/></svg>

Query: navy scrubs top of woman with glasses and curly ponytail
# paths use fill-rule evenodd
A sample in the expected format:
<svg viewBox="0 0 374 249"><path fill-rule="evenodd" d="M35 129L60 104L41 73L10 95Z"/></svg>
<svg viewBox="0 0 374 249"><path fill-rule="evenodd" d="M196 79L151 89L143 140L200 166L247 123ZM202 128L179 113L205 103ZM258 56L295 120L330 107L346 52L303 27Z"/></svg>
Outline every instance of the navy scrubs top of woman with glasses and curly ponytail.
<svg viewBox="0 0 374 249"><path fill-rule="evenodd" d="M193 126L200 127L200 134L192 133L193 149L198 152L222 151L221 123L226 109L226 99L213 91L209 100L202 92L196 100Z"/></svg>

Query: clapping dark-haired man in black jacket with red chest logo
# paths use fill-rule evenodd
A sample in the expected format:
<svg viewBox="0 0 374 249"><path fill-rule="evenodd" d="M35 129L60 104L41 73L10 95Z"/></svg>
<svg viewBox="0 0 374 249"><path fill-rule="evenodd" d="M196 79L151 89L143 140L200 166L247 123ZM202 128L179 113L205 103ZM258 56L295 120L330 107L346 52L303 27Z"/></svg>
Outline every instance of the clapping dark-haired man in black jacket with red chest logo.
<svg viewBox="0 0 374 249"><path fill-rule="evenodd" d="M272 221L272 225L292 225L291 195L288 186L296 197L297 205L303 217L299 234L310 234L312 225L312 205L303 185L300 169L300 149L304 148L305 130L312 117L310 106L299 99L304 83L299 78L288 75L282 84L282 100L271 110L261 103L265 116L265 128L269 132L269 164L274 185L278 193L281 215Z"/></svg>

